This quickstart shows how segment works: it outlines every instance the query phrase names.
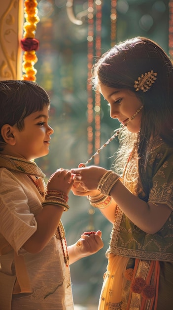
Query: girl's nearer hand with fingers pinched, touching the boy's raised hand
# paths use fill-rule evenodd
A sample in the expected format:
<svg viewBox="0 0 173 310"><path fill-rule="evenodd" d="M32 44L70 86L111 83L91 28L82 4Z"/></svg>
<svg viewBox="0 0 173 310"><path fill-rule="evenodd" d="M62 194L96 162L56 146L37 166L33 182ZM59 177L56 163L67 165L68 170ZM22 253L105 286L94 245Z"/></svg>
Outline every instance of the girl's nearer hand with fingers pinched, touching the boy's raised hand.
<svg viewBox="0 0 173 310"><path fill-rule="evenodd" d="M72 175L74 174L73 176L74 185L77 182L80 183L80 187L82 187L85 190L85 192L87 192L97 190L98 183L107 170L102 167L90 166L85 168L71 169L70 171Z"/></svg>

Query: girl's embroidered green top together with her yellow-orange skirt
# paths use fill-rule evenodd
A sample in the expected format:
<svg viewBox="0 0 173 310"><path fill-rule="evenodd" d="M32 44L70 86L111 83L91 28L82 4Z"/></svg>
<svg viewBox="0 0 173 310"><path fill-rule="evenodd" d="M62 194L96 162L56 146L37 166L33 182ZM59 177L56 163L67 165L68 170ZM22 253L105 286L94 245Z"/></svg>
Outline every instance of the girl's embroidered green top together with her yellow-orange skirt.
<svg viewBox="0 0 173 310"><path fill-rule="evenodd" d="M143 195L138 183L136 146L123 183ZM148 203L166 204L172 212L155 234L139 229L119 208L107 251L99 310L170 310L173 307L173 148L160 139L147 163Z"/></svg>

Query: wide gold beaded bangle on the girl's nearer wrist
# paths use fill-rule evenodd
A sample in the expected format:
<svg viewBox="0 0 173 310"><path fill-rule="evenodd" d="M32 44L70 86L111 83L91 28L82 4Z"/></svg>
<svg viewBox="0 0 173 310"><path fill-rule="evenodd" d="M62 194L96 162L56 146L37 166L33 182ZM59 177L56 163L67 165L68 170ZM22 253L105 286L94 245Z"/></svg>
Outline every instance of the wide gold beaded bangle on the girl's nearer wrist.
<svg viewBox="0 0 173 310"><path fill-rule="evenodd" d="M110 190L119 180L119 178L120 175L111 170L108 170L106 171L106 173L104 173L103 177L100 179L97 189L101 191L102 194L108 196Z"/></svg>

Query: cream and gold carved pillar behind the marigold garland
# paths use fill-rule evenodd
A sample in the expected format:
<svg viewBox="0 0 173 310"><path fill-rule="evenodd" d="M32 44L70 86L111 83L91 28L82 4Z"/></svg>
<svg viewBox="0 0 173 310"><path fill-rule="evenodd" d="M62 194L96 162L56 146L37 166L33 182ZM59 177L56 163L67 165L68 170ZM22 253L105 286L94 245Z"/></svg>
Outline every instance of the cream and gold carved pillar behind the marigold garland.
<svg viewBox="0 0 173 310"><path fill-rule="evenodd" d="M21 80L23 34L23 0L0 3L0 80Z"/></svg>

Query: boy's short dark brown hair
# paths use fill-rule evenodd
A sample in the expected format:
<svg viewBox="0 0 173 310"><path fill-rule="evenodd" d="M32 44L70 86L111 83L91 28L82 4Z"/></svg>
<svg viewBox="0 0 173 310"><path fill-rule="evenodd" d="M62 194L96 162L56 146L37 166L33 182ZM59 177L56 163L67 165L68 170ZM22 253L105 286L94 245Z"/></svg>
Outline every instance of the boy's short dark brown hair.
<svg viewBox="0 0 173 310"><path fill-rule="evenodd" d="M24 128L24 119L33 112L49 106L46 91L32 81L0 81L0 131L4 124ZM0 133L0 146L5 142Z"/></svg>

